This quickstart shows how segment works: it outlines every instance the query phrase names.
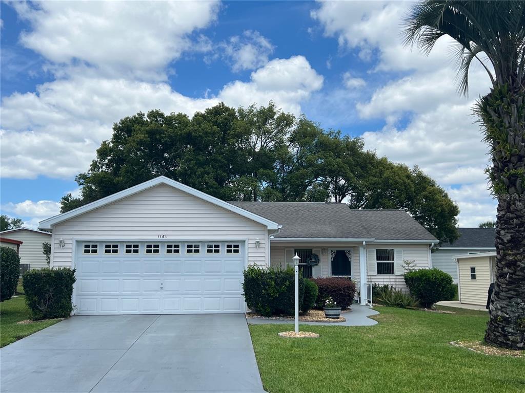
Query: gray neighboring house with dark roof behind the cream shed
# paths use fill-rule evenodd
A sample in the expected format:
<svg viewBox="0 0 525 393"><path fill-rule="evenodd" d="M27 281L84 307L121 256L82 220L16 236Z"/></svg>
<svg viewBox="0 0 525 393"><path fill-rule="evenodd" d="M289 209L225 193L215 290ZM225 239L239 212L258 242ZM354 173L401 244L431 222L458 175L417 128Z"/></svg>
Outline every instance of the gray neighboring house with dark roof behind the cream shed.
<svg viewBox="0 0 525 393"><path fill-rule="evenodd" d="M440 243L432 253L432 267L447 272L454 282L458 281L457 255L469 255L495 251L495 228L458 228L459 238L453 243Z"/></svg>

